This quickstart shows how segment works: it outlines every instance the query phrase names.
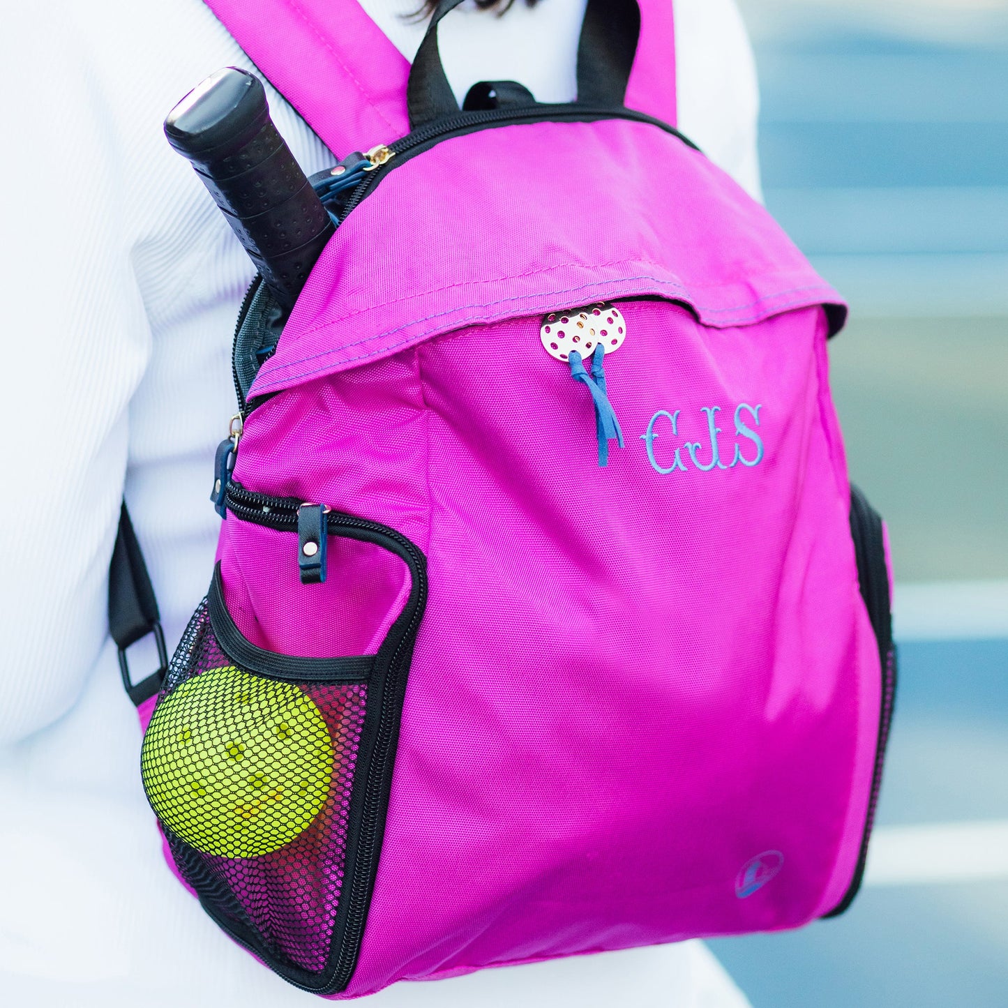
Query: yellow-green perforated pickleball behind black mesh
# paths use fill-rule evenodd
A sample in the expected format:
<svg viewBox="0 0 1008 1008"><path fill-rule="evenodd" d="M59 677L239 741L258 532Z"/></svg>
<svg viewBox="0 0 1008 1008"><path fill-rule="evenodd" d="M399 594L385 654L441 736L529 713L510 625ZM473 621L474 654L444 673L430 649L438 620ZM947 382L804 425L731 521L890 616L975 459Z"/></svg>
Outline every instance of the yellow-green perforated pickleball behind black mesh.
<svg viewBox="0 0 1008 1008"><path fill-rule="evenodd" d="M172 833L205 854L254 858L311 825L333 758L326 722L302 689L229 665L186 679L157 705L140 767Z"/></svg>

